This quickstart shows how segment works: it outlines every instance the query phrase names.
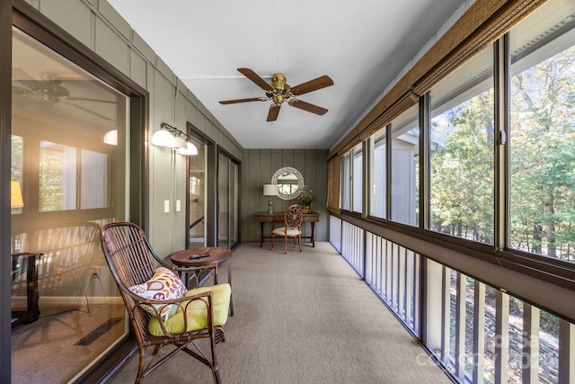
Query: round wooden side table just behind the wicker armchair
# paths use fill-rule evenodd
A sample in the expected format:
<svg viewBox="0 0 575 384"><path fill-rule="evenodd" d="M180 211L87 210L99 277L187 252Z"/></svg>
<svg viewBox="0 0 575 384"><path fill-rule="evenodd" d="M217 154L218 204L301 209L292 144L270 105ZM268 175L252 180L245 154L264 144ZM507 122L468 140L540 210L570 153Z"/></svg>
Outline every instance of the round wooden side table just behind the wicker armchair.
<svg viewBox="0 0 575 384"><path fill-rule="evenodd" d="M190 260L190 256L199 254L209 254L209 256ZM204 246L201 248L184 249L179 252L174 252L172 255L170 255L170 260L172 260L172 263L182 268L190 268L190 273L195 273L192 271L194 267L200 267L213 263L217 263L217 266L219 267L221 263L227 262L227 282L230 284L230 287L232 286L231 258L232 258L232 250L219 246ZM216 284L219 282L217 276L218 269L219 268L216 268L215 272ZM188 284L190 282L189 280L190 277L188 276L185 279L186 286L188 288L190 288ZM232 297L230 297L230 316L234 316L234 300L232 299Z"/></svg>

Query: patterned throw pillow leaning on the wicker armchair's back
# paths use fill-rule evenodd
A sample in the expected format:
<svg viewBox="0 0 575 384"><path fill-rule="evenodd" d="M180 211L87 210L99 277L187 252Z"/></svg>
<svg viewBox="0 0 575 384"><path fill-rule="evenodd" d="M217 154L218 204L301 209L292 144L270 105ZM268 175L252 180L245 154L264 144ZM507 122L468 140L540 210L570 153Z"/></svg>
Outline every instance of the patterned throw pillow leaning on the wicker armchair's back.
<svg viewBox="0 0 575 384"><path fill-rule="evenodd" d="M186 287L181 282L180 277L165 267L159 267L150 280L133 285L129 287L129 290L141 298L151 300L180 299L186 293ZM165 321L175 313L177 306L174 304L167 306L154 304L154 307L160 312L161 319ZM155 316L153 308L149 306L143 306L143 308Z"/></svg>

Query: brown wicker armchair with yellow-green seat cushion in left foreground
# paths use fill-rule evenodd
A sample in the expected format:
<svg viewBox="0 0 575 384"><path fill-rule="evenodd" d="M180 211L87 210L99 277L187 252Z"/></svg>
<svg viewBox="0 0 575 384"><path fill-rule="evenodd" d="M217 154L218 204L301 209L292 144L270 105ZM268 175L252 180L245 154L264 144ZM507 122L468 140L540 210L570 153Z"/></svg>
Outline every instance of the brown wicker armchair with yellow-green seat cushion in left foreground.
<svg viewBox="0 0 575 384"><path fill-rule="evenodd" d="M106 224L102 227L101 241L103 253L137 337L140 360L136 382L140 382L174 354L183 351L206 364L212 371L214 382L220 383L215 348L218 341L225 341L224 324L231 294L229 284L188 290L180 299L143 299L130 287L146 285L155 276L155 262L173 272L179 268L163 263L155 255L144 231L136 224ZM206 265L205 268L213 269L217 265ZM164 308L171 305L177 306L170 311L175 314L166 320L163 317ZM203 338L209 339L211 356L203 353L196 343L196 340ZM195 349L190 349L190 344ZM173 345L175 349L160 357L159 353L168 345ZM146 348L151 346L154 347L154 353L146 362Z"/></svg>

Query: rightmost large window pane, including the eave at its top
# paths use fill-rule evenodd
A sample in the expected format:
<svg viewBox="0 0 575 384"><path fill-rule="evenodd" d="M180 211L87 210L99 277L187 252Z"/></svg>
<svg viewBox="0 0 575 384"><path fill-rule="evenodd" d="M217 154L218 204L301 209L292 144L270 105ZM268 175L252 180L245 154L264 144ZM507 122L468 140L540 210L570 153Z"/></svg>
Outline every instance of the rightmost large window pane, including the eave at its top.
<svg viewBox="0 0 575 384"><path fill-rule="evenodd" d="M575 3L510 33L510 233L520 251L575 261Z"/></svg>

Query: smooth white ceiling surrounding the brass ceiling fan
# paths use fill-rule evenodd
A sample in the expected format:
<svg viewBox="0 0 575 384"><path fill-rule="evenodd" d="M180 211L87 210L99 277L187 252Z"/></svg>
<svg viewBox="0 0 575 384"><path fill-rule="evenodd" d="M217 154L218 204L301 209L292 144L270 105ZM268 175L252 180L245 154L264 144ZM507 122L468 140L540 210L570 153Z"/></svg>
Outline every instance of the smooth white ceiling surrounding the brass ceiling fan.
<svg viewBox="0 0 575 384"><path fill-rule="evenodd" d="M464 0L109 0L245 148L330 149L444 31ZM418 56L419 55L419 56ZM334 85L298 98L323 116L270 101L236 68L289 85L328 75Z"/></svg>

